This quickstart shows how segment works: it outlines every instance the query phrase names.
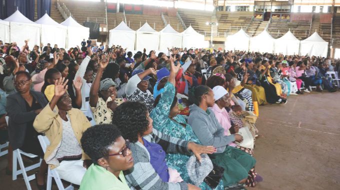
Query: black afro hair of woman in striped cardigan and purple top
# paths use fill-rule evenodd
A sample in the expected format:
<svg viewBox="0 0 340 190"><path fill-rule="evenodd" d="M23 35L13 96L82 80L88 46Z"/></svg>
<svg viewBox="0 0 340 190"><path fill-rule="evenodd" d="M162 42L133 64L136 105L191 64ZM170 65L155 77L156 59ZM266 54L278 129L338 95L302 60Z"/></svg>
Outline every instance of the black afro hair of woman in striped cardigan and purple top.
<svg viewBox="0 0 340 190"><path fill-rule="evenodd" d="M146 105L139 101L126 101L118 105L113 113L112 123L121 131L125 139L134 143L147 130Z"/></svg>

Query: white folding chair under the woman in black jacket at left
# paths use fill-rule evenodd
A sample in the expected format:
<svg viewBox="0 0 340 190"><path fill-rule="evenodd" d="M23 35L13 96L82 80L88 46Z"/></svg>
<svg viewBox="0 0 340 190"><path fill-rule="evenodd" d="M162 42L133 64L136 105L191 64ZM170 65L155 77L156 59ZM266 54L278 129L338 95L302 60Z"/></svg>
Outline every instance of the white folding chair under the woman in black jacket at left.
<svg viewBox="0 0 340 190"><path fill-rule="evenodd" d="M9 117L5 116L5 119L6 119L6 123L8 125ZM27 153L27 152L24 152L20 149L13 150L12 180L16 180L17 175L22 174L23 180L25 181L25 184L26 184L26 187L27 187L27 190L31 190L32 188L30 187L29 181L32 180L32 179L35 179L35 175L32 174L32 175L27 176L26 172L39 167L42 159L40 159L40 161L38 163L35 163L35 164L32 164L32 165L25 167L23 165L21 154L25 155L27 157L30 157L30 158L37 157L37 155L35 155L35 154ZM20 165L19 170L17 170L17 162L19 162L19 165Z"/></svg>

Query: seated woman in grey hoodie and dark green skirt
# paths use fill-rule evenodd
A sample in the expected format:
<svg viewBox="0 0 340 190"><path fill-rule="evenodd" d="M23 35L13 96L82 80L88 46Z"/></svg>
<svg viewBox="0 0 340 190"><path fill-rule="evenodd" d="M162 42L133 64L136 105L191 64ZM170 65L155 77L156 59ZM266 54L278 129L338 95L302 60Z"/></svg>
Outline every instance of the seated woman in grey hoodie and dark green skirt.
<svg viewBox="0 0 340 190"><path fill-rule="evenodd" d="M232 141L242 141L239 134L224 135L224 129L218 123L215 114L208 109L213 106L214 96L212 90L199 85L189 93L191 105L187 123L192 126L193 132L204 145L217 147L216 153L210 155L212 163L224 168L224 189L240 188L248 176L248 171L255 165L255 159L240 149L229 146Z"/></svg>

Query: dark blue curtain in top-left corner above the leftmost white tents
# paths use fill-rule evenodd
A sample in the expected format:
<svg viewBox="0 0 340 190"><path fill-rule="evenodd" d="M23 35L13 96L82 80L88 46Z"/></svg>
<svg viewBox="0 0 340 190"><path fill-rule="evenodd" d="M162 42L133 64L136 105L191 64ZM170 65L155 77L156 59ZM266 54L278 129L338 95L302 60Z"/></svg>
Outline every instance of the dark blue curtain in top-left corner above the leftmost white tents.
<svg viewBox="0 0 340 190"><path fill-rule="evenodd" d="M28 19L34 21L34 0L1 0L1 19L10 16L16 8Z"/></svg>

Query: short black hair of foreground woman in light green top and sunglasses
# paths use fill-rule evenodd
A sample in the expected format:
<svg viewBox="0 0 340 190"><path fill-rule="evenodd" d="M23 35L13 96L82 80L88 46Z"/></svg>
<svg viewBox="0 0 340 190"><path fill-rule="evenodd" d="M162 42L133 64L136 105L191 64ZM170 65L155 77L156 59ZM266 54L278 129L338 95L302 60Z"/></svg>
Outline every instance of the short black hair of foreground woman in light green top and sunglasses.
<svg viewBox="0 0 340 190"><path fill-rule="evenodd" d="M109 146L121 136L118 128L113 124L97 124L89 127L82 134L80 143L83 151L98 164L97 160L108 157Z"/></svg>

